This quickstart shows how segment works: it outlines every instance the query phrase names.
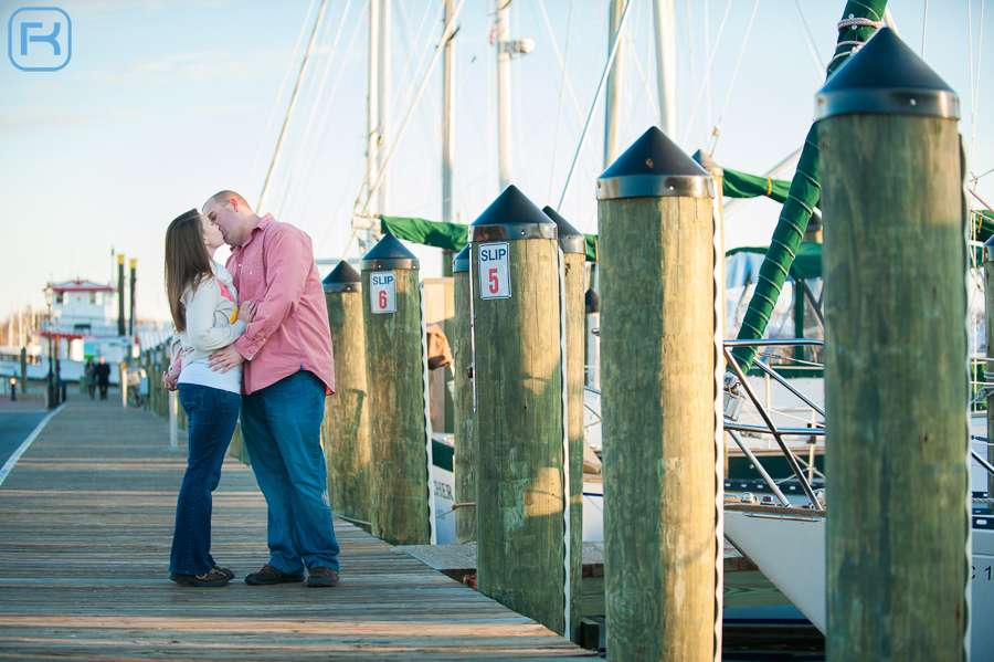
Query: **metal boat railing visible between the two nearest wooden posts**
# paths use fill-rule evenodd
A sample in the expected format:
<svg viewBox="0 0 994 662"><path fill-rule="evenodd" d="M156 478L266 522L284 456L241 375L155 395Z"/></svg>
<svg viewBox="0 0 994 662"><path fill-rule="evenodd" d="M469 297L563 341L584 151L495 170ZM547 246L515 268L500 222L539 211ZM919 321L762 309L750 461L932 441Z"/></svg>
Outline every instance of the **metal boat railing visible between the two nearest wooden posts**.
<svg viewBox="0 0 994 662"><path fill-rule="evenodd" d="M753 407L759 412L760 417L763 419L763 422L766 425L766 429L763 432L768 432L773 435L773 439L776 440L776 444L780 446L781 452L787 461L787 464L791 467L794 476L797 479L797 482L801 484L801 490L804 491L804 494L807 496L811 502L811 507L816 511L824 509L824 506L818 501L817 496L814 493L814 490L811 486L811 482L804 475L804 470L801 467L801 463L797 461L797 458L794 455L793 451L791 451L790 446L786 444L784 440L784 434L797 433L799 431L786 431L779 429L776 424L773 422L773 419L766 409L766 407L760 401L759 396L757 396L755 391L749 385L749 381L745 379L745 374L742 368L739 366L739 362L736 360L736 357L731 353L731 347L773 347L773 346L824 346L824 340L818 340L814 338L783 338L783 339L759 339L759 340L726 340L725 341L725 360L728 364L728 367L734 374L738 379L738 385L736 388L741 387L745 390L745 393L749 396L749 399L752 401ZM825 416L824 410L821 407L817 407L814 402L811 401L810 398L803 396L797 389L795 389L792 385L787 383L785 379L783 379L780 375L776 375L775 370L769 368L768 366L762 365L761 361L753 360L753 365L760 367L763 372L769 375L771 378L775 379L779 383L784 386L789 391L801 398L807 406L812 407L815 411L818 411L823 417ZM747 450L748 446L741 440L738 434L737 428L745 428L744 425L739 425L734 422L726 421L725 429L729 431L729 435L736 442L736 444L742 450L747 458L749 458L750 462L752 462L753 466L755 466L760 471L760 475L763 477L763 481L770 486L776 497L784 504L787 505L786 497L780 491L779 486L776 486L775 481L772 480L769 473L765 470L761 469L762 464L758 461L755 455ZM758 428L758 427L750 427ZM824 434L824 428L810 428L800 431L804 434Z"/></svg>

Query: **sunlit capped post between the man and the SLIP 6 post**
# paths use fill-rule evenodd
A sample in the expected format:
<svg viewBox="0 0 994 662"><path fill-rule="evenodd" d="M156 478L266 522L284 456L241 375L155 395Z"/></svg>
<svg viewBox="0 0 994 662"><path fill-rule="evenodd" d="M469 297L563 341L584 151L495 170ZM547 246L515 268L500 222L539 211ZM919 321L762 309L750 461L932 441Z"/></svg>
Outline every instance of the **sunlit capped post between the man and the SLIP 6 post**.
<svg viewBox="0 0 994 662"><path fill-rule="evenodd" d="M362 276L342 260L321 282L335 349L336 392L325 398L325 458L331 509L370 522L372 462L362 328Z"/></svg>

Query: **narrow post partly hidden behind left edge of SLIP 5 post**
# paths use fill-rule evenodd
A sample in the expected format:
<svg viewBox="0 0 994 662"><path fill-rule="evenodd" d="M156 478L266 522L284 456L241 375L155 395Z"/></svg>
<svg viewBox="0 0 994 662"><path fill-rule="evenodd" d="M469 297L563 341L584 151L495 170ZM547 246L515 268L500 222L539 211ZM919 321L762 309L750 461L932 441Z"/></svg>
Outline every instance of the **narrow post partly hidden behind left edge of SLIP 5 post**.
<svg viewBox="0 0 994 662"><path fill-rule="evenodd" d="M476 441L473 438L473 341L470 338L469 244L452 261L455 317L452 337L455 409L456 543L476 540ZM469 505L473 504L473 505Z"/></svg>

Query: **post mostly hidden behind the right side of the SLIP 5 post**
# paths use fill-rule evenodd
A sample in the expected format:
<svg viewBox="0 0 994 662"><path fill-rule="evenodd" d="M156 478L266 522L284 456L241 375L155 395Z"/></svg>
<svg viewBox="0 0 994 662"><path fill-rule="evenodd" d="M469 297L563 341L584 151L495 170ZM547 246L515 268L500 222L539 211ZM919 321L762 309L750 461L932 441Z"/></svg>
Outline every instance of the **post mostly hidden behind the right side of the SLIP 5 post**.
<svg viewBox="0 0 994 662"><path fill-rule="evenodd" d="M583 584L583 336L586 314L583 295L586 288L586 238L551 207L542 211L556 223L563 264L563 308L567 366L567 428L570 440L570 622L569 639L580 643L580 608Z"/></svg>

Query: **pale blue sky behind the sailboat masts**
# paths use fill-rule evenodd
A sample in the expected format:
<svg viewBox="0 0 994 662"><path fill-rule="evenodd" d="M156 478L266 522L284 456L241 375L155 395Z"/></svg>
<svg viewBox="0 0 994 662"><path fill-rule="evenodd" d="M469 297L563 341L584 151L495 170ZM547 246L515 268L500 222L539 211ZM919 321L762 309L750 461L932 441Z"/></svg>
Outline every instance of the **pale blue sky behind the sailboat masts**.
<svg viewBox="0 0 994 662"><path fill-rule="evenodd" d="M908 0L892 3L892 12L905 41L959 93L967 167L981 176L977 195L992 203L994 174L984 175L994 169L994 96L985 80L994 80L994 46L983 42L991 42L994 24L992 11L982 22L984 1ZM658 122L652 3L632 2L621 50L627 62L623 148ZM454 41L454 208L463 223L500 192L491 4L465 0ZM72 39L65 66L22 71L10 40L19 39L14 25L30 14L18 13L19 2L0 0L9 48L0 59L0 319L19 306L43 307L47 282L113 282L116 252L137 259L139 316L165 321L166 227L218 190L231 188L257 203L318 6L63 0L57 8L70 18ZM559 206L577 155L606 61L607 6L511 2L511 38L535 40L533 52L511 65L512 181L539 207ZM718 125L713 158L720 165L757 175L774 167L811 126L844 7L843 0L676 0L672 137L689 155L708 148ZM366 0L327 0L258 210L304 229L324 260L346 250L366 175L367 11ZM442 0L393 0L391 11L388 148L443 28ZM38 34L50 31L44 25ZM19 64L49 66L40 64L39 49L51 46L29 45ZM441 99L438 66L396 143L388 203L377 211L441 220ZM596 232L603 144L602 102L559 209L585 232ZM741 207L726 221L726 246L768 244L778 213L766 200ZM425 276L441 274L438 251L412 250ZM357 248L350 256L360 256ZM321 266L322 275L332 266Z"/></svg>

